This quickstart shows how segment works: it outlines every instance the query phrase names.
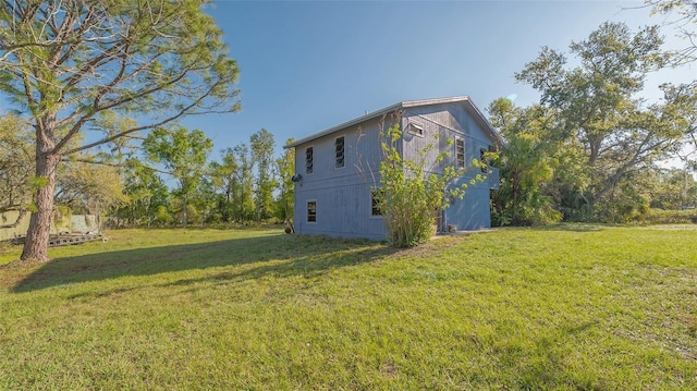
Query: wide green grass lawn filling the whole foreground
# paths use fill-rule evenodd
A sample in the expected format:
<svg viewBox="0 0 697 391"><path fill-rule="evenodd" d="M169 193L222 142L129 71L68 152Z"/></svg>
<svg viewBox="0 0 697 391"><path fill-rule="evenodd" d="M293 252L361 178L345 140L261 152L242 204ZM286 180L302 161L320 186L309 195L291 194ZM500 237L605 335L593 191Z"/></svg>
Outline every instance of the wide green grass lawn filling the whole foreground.
<svg viewBox="0 0 697 391"><path fill-rule="evenodd" d="M695 225L396 251L127 230L0 258L0 389L695 390Z"/></svg>

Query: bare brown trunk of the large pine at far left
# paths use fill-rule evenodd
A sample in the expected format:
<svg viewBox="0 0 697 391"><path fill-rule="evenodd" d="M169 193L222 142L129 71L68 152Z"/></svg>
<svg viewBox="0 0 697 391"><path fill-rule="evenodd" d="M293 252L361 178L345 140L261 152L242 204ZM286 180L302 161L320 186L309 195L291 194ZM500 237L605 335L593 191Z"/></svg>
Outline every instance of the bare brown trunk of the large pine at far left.
<svg viewBox="0 0 697 391"><path fill-rule="evenodd" d="M42 152L37 143L36 176L48 181L34 193L36 211L32 212L29 229L20 259L23 261L45 262L48 257L48 240L51 233L51 215L53 213L53 193L56 191L56 170L60 162L60 156Z"/></svg>

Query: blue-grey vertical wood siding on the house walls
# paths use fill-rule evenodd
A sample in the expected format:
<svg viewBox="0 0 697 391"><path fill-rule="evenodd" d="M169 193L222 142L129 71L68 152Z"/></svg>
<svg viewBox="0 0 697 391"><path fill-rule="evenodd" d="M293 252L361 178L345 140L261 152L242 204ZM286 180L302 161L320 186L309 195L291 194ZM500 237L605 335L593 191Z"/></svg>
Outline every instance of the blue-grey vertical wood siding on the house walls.
<svg viewBox="0 0 697 391"><path fill-rule="evenodd" d="M370 216L370 188L379 186L380 131L390 124L381 119L372 119L358 125L337 131L332 134L296 146L295 167L303 175L295 184L295 231L298 234L325 234L341 237L386 237L381 218ZM409 133L409 124L416 123L424 135ZM435 148L427 155L428 170L442 172L444 167L455 164L455 137L464 139L466 174L453 185L468 183L481 173L472 168L472 159L479 159L479 149L488 149L496 142L489 133L479 127L462 102L431 105L408 108L404 111L401 126L403 139L400 149L405 158L418 158L418 151L429 144ZM335 168L337 137L344 137L344 160L341 169ZM305 174L305 149L314 149L313 173ZM450 156L441 163L436 157L441 151ZM491 227L489 190L498 186L499 176L492 170L487 181L469 185L465 197L456 200L445 210L444 228L454 224L458 230ZM307 201L317 203L317 221L307 222Z"/></svg>

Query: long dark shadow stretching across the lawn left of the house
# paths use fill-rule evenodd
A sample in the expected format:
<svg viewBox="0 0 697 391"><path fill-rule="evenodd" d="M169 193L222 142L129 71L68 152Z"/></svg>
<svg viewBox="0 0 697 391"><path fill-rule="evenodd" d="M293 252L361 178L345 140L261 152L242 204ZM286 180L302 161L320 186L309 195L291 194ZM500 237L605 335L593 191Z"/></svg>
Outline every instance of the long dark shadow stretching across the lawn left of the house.
<svg viewBox="0 0 697 391"><path fill-rule="evenodd" d="M175 284L232 278L233 274L249 279L269 273L280 277L316 276L334 268L370 262L394 252L396 249L368 241L293 235L134 248L54 259L24 278L12 291L29 292L125 276L152 276L271 260L280 260L280 262L262 265L236 273L230 271L203 279L180 280Z"/></svg>

